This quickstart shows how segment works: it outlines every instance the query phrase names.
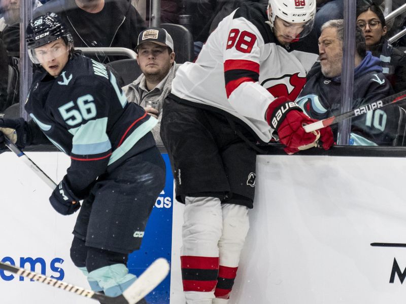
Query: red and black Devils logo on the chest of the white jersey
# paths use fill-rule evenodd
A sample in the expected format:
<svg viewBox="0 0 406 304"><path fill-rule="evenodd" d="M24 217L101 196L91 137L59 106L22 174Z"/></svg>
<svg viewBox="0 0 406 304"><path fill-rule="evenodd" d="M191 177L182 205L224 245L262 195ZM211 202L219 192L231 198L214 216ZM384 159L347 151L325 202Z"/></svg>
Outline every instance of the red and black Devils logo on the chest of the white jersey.
<svg viewBox="0 0 406 304"><path fill-rule="evenodd" d="M266 87L266 83L275 83L276 81L279 83L269 88ZM289 90L285 83L289 83L293 89ZM299 77L299 73L295 73L293 75L286 74L277 79L266 79L262 82L261 86L265 87L266 90L268 90L268 92L275 97L286 96L290 100L294 101L299 95L304 84L306 84L306 77Z"/></svg>

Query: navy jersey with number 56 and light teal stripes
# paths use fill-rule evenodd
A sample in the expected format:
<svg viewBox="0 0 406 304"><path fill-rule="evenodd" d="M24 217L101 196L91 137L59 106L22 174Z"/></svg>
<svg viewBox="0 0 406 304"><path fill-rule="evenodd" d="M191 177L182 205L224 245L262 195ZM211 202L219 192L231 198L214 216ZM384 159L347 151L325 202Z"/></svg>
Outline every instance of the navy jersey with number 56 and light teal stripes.
<svg viewBox="0 0 406 304"><path fill-rule="evenodd" d="M157 120L128 103L115 75L78 53L61 74L33 77L25 109L48 139L71 157L67 177L80 193L127 158L155 145Z"/></svg>

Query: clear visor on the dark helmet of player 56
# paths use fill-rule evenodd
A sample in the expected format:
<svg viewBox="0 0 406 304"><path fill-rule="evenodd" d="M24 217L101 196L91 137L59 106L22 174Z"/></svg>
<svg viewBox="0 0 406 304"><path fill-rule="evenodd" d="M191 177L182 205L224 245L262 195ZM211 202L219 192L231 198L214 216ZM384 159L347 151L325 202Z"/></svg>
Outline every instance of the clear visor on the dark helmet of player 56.
<svg viewBox="0 0 406 304"><path fill-rule="evenodd" d="M69 56L70 47L62 39L58 39L44 46L29 49L28 56L35 64L47 64L58 58Z"/></svg>

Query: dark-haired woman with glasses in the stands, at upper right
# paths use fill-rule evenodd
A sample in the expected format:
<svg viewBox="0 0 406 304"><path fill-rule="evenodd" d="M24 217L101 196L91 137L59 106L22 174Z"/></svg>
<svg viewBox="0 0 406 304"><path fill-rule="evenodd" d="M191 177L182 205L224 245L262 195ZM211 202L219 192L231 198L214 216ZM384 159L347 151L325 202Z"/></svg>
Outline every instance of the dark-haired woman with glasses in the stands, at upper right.
<svg viewBox="0 0 406 304"><path fill-rule="evenodd" d="M380 59L383 73L394 91L406 90L406 54L385 39L388 29L381 9L376 5L359 7L357 25L364 33L366 50Z"/></svg>

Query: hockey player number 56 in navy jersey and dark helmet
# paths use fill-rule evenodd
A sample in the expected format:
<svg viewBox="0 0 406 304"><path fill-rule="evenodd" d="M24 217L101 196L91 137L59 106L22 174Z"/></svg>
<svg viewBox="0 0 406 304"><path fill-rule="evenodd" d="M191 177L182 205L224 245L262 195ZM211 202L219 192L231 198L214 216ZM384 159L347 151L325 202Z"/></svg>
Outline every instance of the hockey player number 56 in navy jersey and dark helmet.
<svg viewBox="0 0 406 304"><path fill-rule="evenodd" d="M83 200L72 260L93 290L116 296L136 280L128 254L140 248L164 185L164 162L150 132L157 120L127 102L108 68L74 51L56 14L32 20L26 43L42 67L25 104L31 120L0 119L0 131L20 148L49 140L70 156L49 200L63 215L78 211Z"/></svg>

